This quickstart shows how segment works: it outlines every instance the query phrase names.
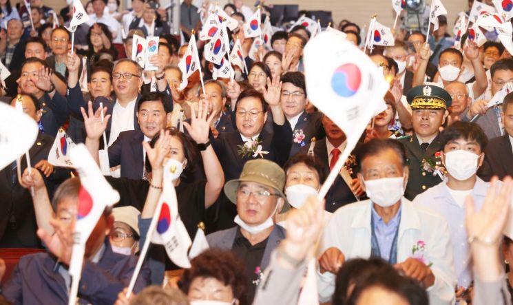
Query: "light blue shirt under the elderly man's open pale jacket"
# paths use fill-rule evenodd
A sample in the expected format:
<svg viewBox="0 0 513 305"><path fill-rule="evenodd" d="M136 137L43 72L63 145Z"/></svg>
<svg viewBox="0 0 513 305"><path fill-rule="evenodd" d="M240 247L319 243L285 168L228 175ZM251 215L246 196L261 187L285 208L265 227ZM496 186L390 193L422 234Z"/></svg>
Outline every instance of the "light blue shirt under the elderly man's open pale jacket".
<svg viewBox="0 0 513 305"><path fill-rule="evenodd" d="M387 262L390 260L390 250L394 242L395 234L399 229L399 222L401 221L401 207L388 224L384 222L383 218L376 212L373 206L373 220L374 220L374 233L376 234L377 244L379 245L379 253L381 258Z"/></svg>

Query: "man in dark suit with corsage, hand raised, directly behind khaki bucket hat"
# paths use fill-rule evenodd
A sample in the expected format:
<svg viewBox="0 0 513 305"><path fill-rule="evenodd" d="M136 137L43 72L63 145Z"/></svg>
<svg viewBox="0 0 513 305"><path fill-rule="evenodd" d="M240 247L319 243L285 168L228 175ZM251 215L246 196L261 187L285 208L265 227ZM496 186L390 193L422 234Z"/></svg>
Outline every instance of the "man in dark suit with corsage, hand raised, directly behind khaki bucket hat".
<svg viewBox="0 0 513 305"><path fill-rule="evenodd" d="M264 129L268 103L273 114L273 133ZM292 142L288 139L292 138L292 130L280 106L278 84L269 86L266 99L256 90L243 91L234 109L237 130L220 133L218 138L212 135L210 138L221 162L224 180L238 178L244 164L253 159L264 158L283 166L289 158ZM217 222L219 228L232 227L236 214L233 204L229 204L224 196L220 197L218 204L221 210Z"/></svg>

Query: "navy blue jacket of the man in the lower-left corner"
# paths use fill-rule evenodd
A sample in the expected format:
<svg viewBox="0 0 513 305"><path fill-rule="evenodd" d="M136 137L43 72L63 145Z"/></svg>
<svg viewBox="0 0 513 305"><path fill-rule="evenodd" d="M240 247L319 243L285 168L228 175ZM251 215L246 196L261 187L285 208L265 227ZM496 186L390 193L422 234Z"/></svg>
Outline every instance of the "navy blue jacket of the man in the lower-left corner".
<svg viewBox="0 0 513 305"><path fill-rule="evenodd" d="M78 297L92 304L112 305L124 287L128 286L137 264L134 255L112 252L105 238L105 252L95 264L85 260L78 288ZM21 257L10 280L4 286L3 296L14 304L67 304L68 288L59 273L59 264L50 253L36 253ZM149 268L143 264L134 292L149 284Z"/></svg>

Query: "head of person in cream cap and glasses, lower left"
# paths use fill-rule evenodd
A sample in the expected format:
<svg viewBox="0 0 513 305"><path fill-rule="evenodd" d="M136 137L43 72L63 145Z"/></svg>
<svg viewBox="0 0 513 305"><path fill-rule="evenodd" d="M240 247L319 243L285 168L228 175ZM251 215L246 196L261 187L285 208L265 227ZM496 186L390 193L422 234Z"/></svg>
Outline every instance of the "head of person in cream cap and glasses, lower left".
<svg viewBox="0 0 513 305"><path fill-rule="evenodd" d="M112 252L123 255L135 254L139 245L138 216L140 212L134 207L116 207L112 209L114 227L110 232Z"/></svg>

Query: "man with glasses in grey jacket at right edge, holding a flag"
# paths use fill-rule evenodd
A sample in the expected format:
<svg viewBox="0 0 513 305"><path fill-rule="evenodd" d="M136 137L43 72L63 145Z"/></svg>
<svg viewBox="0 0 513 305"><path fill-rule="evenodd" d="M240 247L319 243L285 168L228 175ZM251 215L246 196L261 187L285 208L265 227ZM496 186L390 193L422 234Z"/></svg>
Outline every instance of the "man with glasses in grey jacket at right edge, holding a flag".
<svg viewBox="0 0 513 305"><path fill-rule="evenodd" d="M496 138L502 136L505 132L502 106L495 105L488 107L487 105L490 99L492 99L506 83L513 82L513 59L501 59L496 61L492 67L490 67L490 75L492 76L490 91L484 94L483 99L474 101L468 111L461 114L461 120L472 120L474 116L479 115L474 122L483 128L488 138Z"/></svg>

